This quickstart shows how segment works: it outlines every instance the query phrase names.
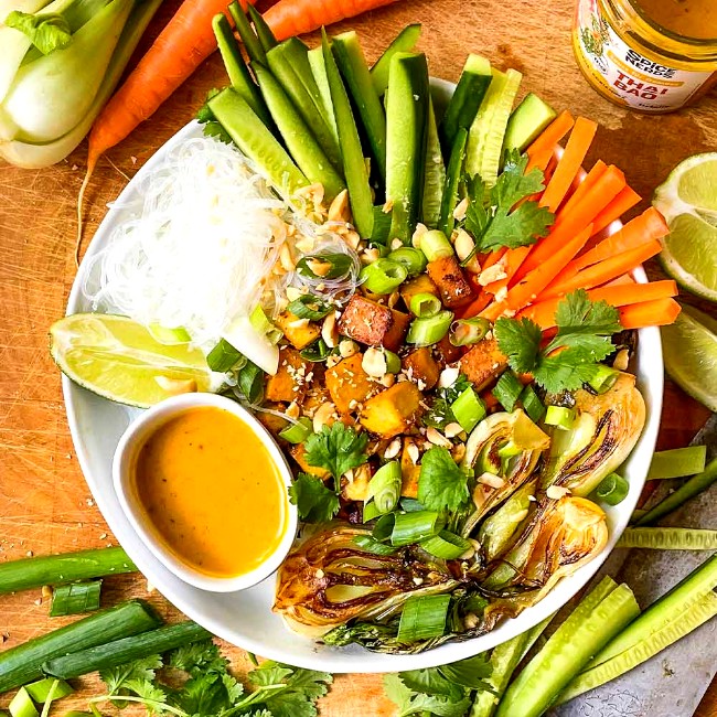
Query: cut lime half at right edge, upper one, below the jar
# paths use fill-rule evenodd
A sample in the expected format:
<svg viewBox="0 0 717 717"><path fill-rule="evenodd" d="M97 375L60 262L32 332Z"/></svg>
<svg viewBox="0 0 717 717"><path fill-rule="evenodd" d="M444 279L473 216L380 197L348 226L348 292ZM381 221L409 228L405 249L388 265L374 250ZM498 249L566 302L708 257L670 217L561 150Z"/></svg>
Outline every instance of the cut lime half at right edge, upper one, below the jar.
<svg viewBox="0 0 717 717"><path fill-rule="evenodd" d="M652 203L670 225L663 268L688 291L717 301L717 152L677 164Z"/></svg>

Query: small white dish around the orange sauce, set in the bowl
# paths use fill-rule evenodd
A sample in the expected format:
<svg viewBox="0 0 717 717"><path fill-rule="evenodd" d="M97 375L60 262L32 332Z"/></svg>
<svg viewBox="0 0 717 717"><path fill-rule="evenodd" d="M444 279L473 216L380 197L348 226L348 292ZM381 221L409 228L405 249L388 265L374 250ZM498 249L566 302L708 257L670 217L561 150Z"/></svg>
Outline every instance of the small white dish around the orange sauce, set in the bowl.
<svg viewBox="0 0 717 717"><path fill-rule="evenodd" d="M260 440L274 461L277 472L288 490L291 469L283 453L267 429L243 406L208 393L188 393L168 398L138 416L122 434L113 460L113 481L119 504L145 545L171 572L184 582L211 592L234 592L257 585L275 572L286 558L298 528L297 506L286 494L286 529L272 553L256 568L232 577L215 577L194 569L181 560L168 547L152 525L151 518L140 505L132 486L137 459L142 446L167 421L192 408L213 407L236 416Z"/></svg>

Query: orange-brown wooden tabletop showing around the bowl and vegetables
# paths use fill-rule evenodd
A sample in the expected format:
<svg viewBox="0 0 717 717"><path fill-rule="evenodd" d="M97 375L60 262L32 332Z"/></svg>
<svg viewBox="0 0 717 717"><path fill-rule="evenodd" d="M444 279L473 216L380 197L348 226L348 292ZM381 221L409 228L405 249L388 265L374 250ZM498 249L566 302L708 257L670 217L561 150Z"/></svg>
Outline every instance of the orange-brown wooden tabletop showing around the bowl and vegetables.
<svg viewBox="0 0 717 717"><path fill-rule="evenodd" d="M332 30L358 30L373 61L403 25L419 21L420 47L435 76L456 81L468 52L488 56L500 68L520 69L522 93L536 92L558 109L600 122L589 164L597 157L616 163L632 186L650 197L679 160L717 149L717 95L713 92L697 107L661 117L630 114L609 104L587 85L575 64L574 4L574 0L404 0ZM175 7L175 0L165 1L146 42ZM307 41L315 44L317 35ZM92 237L107 202L127 178L192 118L210 88L224 84L222 63L214 55L100 161L86 195L86 236ZM85 158L83 145L50 169L0 165L0 559L115 544L77 464L60 373L46 350L47 328L63 315L75 277L75 202ZM650 271L659 274L655 266ZM668 383L659 447L685 445L707 415ZM176 617L161 596L148 592L139 576L113 578L106 586L107 603L141 596L168 618ZM0 598L0 634L7 648L57 627L60 620L47 618L40 591ZM247 668L245 656L237 649L228 653L240 676ZM86 687L81 697L96 687L92 679L81 685ZM82 698L75 704L83 708ZM324 717L393 714L381 677L372 675L336 677L321 703ZM717 717L715 685L696 714Z"/></svg>

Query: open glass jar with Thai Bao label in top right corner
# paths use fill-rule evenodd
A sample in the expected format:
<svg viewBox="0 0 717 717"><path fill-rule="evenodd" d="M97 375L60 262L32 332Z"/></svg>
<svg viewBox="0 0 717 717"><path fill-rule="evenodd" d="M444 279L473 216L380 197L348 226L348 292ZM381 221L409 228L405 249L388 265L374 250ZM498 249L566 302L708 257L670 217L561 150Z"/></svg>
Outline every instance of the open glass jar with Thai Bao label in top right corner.
<svg viewBox="0 0 717 717"><path fill-rule="evenodd" d="M572 45L595 89L642 113L679 109L717 81L717 38L666 30L640 10L639 0L578 0Z"/></svg>

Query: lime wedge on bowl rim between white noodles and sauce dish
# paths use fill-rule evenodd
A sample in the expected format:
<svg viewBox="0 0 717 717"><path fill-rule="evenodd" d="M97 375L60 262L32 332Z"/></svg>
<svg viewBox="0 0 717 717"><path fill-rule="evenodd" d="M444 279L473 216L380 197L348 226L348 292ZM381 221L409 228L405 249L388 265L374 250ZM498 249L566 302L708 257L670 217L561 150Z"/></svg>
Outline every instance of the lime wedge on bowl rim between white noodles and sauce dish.
<svg viewBox="0 0 717 717"><path fill-rule="evenodd" d="M140 408L180 393L215 387L202 351L189 343L160 343L147 328L126 317L65 317L50 328L50 353L79 386Z"/></svg>

